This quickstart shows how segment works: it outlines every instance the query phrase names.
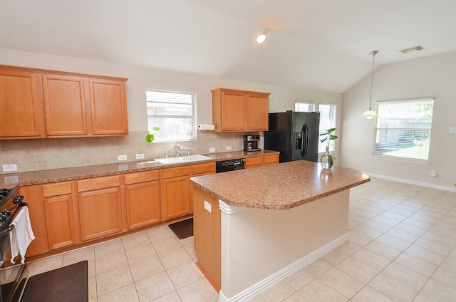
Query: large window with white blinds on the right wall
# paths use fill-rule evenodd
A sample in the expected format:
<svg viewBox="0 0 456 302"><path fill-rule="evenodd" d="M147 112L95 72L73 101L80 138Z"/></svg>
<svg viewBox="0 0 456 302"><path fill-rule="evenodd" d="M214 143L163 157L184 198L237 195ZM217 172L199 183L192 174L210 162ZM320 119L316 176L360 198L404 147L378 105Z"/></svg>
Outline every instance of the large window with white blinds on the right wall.
<svg viewBox="0 0 456 302"><path fill-rule="evenodd" d="M427 162L434 99L378 102L373 154Z"/></svg>

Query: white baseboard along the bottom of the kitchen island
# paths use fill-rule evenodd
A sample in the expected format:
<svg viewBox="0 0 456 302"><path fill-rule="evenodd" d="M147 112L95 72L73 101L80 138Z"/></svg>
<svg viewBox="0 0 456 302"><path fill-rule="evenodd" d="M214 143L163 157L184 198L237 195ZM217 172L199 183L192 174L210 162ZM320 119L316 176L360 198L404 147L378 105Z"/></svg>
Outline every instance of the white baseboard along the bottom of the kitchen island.
<svg viewBox="0 0 456 302"><path fill-rule="evenodd" d="M266 288L273 286L275 283L283 280L284 278L294 274L296 271L299 271L304 266L310 264L311 262L315 261L316 259L320 258L324 254L336 249L337 246L348 241L348 233L334 239L333 241L329 242L328 244L321 246L321 248L316 249L315 251L307 254L303 258L295 261L294 263L290 264L289 266L284 267L279 271L276 271L271 276L264 278L263 280L255 283L253 286L246 288L244 291L237 293L236 295L232 296L231 298L227 298L227 296L223 293L223 288L220 290L219 293L219 302L244 302L253 298L261 291L264 291Z"/></svg>

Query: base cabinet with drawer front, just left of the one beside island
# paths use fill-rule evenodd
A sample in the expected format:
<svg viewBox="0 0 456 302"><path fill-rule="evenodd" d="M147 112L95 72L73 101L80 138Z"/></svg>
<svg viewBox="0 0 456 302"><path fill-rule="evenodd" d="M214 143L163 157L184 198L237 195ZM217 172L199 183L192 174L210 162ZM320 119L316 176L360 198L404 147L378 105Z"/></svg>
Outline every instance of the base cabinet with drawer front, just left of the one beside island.
<svg viewBox="0 0 456 302"><path fill-rule="evenodd" d="M125 175L127 229L160 222L160 172L158 170Z"/></svg>

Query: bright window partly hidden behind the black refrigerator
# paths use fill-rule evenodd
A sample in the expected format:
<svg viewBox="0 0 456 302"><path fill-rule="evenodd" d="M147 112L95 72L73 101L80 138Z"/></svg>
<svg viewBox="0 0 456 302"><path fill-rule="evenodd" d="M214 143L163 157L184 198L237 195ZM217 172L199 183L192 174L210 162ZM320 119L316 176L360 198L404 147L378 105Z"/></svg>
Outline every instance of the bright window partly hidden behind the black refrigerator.
<svg viewBox="0 0 456 302"><path fill-rule="evenodd" d="M336 127L336 117L337 117L337 105L334 104L320 104L320 103L304 103L304 102L295 102L294 103L295 111L304 111L304 112L320 112L320 129L319 132L323 133L330 128ZM334 152L336 150L336 143L331 140L329 142L329 150ZM323 153L326 151L326 142L318 143L318 153Z"/></svg>

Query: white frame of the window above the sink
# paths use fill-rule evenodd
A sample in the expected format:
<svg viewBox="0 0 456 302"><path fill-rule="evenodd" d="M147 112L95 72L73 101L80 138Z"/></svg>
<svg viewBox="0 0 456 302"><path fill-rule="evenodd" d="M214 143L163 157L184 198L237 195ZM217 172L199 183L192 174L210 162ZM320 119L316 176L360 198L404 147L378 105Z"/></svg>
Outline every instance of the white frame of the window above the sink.
<svg viewBox="0 0 456 302"><path fill-rule="evenodd" d="M150 115L147 114L147 103L167 103L167 102L152 102L147 100L147 93L148 92L156 92L156 93L176 93L180 95L191 95L192 96L192 115ZM152 89L152 88L146 88L145 90L145 103L146 103L146 119L147 119L147 131L149 133L154 133L155 134L155 140L154 142L188 142L188 141L193 141L197 140L197 94L192 93L192 92L187 92L187 91L176 91L176 90L161 90L161 89ZM179 103L170 103L170 104L179 104ZM187 118L192 118L192 137L190 138L177 138L177 137L170 137L170 138L165 138L165 139L160 139L160 131L155 132L152 130L152 127L155 127L156 125L149 125L149 118L182 118L182 120L187 119ZM161 130L161 129L160 129Z"/></svg>

